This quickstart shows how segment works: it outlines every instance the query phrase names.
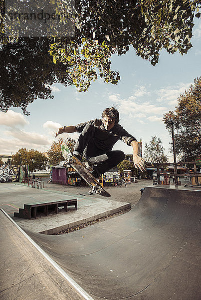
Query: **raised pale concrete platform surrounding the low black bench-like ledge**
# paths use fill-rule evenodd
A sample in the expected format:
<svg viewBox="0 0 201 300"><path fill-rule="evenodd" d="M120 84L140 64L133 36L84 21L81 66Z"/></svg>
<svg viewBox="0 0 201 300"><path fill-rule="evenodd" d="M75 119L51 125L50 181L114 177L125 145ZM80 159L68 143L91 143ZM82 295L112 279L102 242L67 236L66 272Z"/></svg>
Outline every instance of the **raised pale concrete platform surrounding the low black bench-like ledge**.
<svg viewBox="0 0 201 300"><path fill-rule="evenodd" d="M114 187L114 190L117 188ZM128 189L126 189L127 192ZM3 208L18 225L34 232L48 234L53 234L83 222L95 220L130 208L130 202L126 201L126 199L125 201L122 199L118 201L116 196L109 198L100 195L90 196L88 195L88 190L88 187L71 188L65 186L65 188L61 188L61 186L55 184L54 189L36 189L19 183L1 183L0 208ZM129 190L132 193L131 189ZM118 191L124 193L121 187L118 188ZM23 204L51 202L71 198L78 199L78 210L72 206L69 207L67 212L60 209L58 214L49 214L48 216L41 216L31 220L13 216L15 211L23 208Z"/></svg>

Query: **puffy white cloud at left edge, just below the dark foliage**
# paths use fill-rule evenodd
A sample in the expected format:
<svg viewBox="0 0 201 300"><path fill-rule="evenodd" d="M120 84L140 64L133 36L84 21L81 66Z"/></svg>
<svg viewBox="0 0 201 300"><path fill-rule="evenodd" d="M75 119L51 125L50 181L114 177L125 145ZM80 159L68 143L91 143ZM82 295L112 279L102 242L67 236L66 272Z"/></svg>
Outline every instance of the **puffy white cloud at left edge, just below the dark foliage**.
<svg viewBox="0 0 201 300"><path fill-rule="evenodd" d="M0 112L0 125L14 128L17 125L24 126L28 120L20 112L9 109L7 112Z"/></svg>

